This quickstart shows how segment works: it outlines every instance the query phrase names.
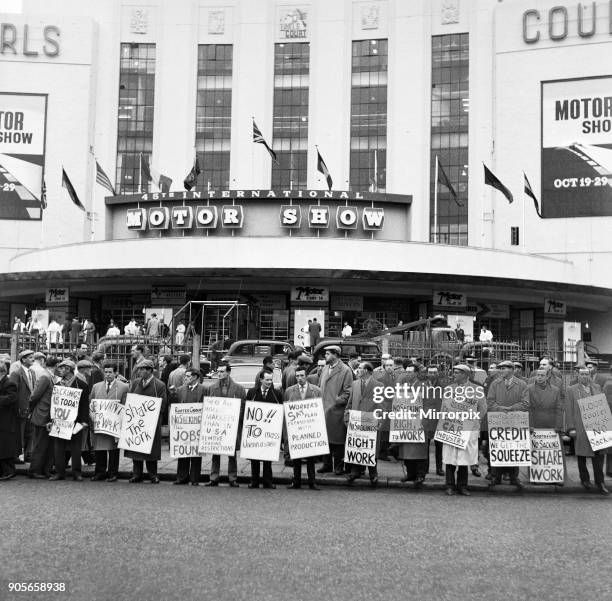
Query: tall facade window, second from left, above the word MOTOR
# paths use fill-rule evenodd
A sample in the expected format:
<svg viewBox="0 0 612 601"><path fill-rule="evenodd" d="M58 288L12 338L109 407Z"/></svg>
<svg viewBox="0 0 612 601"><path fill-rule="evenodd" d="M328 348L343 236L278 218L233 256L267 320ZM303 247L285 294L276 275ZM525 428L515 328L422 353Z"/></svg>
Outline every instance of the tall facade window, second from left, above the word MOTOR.
<svg viewBox="0 0 612 601"><path fill-rule="evenodd" d="M196 151L204 185L229 189L232 46L198 46Z"/></svg>

